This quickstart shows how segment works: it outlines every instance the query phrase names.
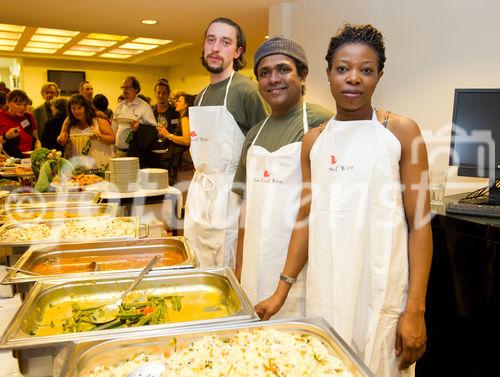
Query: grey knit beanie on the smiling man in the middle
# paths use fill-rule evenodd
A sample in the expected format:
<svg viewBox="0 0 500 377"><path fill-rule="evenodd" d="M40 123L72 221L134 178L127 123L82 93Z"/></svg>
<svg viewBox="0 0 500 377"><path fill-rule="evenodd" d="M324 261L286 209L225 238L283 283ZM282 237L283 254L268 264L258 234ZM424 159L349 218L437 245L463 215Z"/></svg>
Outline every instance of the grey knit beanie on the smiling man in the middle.
<svg viewBox="0 0 500 377"><path fill-rule="evenodd" d="M292 41L284 36L272 37L267 41L262 43L260 47L255 52L253 58L253 72L257 76L257 67L262 59L269 55L283 54L294 58L304 64L307 70L309 66L307 64L306 52L297 42Z"/></svg>

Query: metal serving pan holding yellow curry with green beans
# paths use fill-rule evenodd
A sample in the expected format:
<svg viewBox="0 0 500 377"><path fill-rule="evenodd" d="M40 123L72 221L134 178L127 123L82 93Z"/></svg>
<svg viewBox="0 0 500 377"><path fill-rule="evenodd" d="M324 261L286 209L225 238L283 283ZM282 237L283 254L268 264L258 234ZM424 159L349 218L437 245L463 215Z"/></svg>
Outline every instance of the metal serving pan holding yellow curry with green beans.
<svg viewBox="0 0 500 377"><path fill-rule="evenodd" d="M186 325L257 319L252 305L229 268L153 271L131 295L181 296L179 310L167 305L169 322L62 333L61 324L65 318L72 316L73 303L81 307L115 303L136 275L36 283L7 326L0 340L0 349L38 349L37 354L54 354L58 347L76 340L108 340L125 334L144 335L154 329L168 330Z"/></svg>

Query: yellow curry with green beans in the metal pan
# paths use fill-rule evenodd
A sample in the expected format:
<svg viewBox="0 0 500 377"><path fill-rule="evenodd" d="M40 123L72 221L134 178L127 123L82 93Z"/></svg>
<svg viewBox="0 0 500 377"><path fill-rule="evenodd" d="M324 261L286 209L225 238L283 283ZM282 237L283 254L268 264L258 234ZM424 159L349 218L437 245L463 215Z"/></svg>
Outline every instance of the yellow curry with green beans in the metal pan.
<svg viewBox="0 0 500 377"><path fill-rule="evenodd" d="M49 302L43 309L39 308L39 321L30 334L47 336L207 320L226 317L236 311L221 292L212 289L183 290L179 294L134 291L110 315L105 306L114 302L109 298L85 301L76 297Z"/></svg>

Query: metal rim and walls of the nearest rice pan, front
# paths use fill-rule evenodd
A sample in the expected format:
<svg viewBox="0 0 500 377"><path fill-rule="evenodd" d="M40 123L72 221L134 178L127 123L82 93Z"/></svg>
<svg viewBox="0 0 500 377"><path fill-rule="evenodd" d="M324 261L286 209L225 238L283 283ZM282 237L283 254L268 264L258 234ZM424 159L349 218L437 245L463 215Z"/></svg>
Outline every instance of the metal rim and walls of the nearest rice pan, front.
<svg viewBox="0 0 500 377"><path fill-rule="evenodd" d="M135 354L165 351L170 354L174 351L174 347L177 349L185 348L191 342L206 335L228 338L241 330L260 329L276 329L316 337L323 341L332 355L343 362L353 376L375 376L323 318L272 320L239 324L226 323L209 328L207 326L196 326L162 333L155 331L154 334L134 335L132 338L120 336L115 340L105 342L78 341L70 346L61 370L55 375L60 377L85 377L97 365L110 366L120 360L131 358Z"/></svg>

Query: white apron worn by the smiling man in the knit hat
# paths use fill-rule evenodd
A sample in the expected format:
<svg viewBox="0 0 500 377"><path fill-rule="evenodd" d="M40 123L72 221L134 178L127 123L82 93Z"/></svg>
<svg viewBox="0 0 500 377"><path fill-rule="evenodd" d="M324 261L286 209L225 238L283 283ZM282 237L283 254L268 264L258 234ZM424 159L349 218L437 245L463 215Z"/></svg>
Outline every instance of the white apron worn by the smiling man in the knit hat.
<svg viewBox="0 0 500 377"><path fill-rule="evenodd" d="M241 285L254 305L270 297L283 272L288 244L300 206L302 142L285 145L275 152L254 145L247 153L246 219ZM304 134L307 124L303 104ZM305 268L290 289L285 305L273 318L305 316Z"/></svg>

